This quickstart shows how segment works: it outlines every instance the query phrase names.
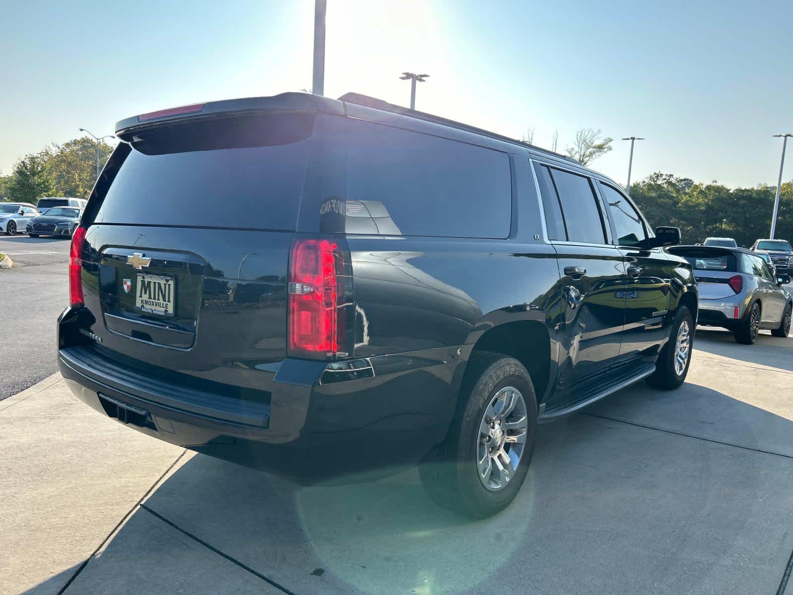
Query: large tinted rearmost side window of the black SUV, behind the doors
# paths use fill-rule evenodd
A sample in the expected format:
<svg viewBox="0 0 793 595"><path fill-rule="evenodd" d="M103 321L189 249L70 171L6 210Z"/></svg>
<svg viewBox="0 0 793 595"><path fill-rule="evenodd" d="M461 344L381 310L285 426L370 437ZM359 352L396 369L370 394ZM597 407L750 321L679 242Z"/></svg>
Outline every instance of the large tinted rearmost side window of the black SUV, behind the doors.
<svg viewBox="0 0 793 595"><path fill-rule="evenodd" d="M350 120L347 233L505 238L506 153Z"/></svg>

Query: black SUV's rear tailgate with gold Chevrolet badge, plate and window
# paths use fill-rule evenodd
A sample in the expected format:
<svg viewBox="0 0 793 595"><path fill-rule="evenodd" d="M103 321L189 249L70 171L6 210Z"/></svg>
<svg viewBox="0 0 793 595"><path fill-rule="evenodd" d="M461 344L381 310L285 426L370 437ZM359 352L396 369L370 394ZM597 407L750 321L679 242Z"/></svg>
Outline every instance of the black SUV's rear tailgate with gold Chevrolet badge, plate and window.
<svg viewBox="0 0 793 595"><path fill-rule="evenodd" d="M286 278L317 113L165 122L126 136L86 211L94 349L168 378L260 388L286 355ZM246 371L248 370L248 371Z"/></svg>

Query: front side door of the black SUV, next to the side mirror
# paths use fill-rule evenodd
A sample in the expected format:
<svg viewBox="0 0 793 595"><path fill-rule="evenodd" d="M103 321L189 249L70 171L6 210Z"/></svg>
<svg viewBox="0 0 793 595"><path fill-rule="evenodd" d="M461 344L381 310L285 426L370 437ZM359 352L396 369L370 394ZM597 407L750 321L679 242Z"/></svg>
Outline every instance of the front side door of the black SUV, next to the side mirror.
<svg viewBox="0 0 793 595"><path fill-rule="evenodd" d="M620 355L628 358L664 341L673 265L661 248L636 247L649 236L649 229L630 199L611 184L599 181L597 186L607 207L614 243L626 261L625 328Z"/></svg>

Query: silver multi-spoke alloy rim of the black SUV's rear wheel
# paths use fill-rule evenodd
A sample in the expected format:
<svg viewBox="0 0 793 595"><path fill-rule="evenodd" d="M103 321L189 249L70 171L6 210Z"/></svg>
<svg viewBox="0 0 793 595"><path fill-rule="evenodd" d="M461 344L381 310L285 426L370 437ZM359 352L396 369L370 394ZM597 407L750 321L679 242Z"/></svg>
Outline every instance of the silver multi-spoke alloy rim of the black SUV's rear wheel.
<svg viewBox="0 0 793 595"><path fill-rule="evenodd" d="M526 401L514 386L493 395L479 425L477 471L485 488L496 492L510 481L526 447Z"/></svg>

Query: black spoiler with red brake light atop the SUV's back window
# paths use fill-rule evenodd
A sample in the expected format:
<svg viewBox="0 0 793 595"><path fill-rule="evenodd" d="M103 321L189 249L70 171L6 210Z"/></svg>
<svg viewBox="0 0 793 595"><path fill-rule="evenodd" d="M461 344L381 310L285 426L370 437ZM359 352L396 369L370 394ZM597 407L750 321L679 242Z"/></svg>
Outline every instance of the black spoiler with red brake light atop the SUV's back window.
<svg viewBox="0 0 793 595"><path fill-rule="evenodd" d="M221 102L194 103L163 109L157 112L142 113L138 116L125 118L116 123L116 136L125 139L132 132L151 128L163 122L183 121L194 118L210 118L228 115L235 112L261 113L274 110L309 110L335 115L344 114L343 103L337 99L322 97L309 93L282 93L271 97L249 97L243 99L227 99Z"/></svg>

